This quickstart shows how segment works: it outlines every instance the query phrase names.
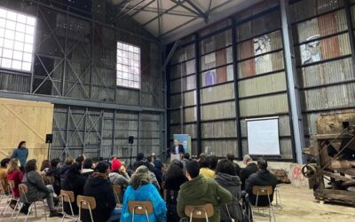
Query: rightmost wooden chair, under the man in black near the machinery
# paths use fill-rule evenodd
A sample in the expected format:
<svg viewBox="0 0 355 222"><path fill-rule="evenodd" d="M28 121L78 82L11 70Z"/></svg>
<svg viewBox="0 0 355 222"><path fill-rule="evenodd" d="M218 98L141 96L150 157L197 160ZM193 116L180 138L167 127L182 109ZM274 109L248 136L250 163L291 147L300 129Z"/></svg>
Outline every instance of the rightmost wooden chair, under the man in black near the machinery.
<svg viewBox="0 0 355 222"><path fill-rule="evenodd" d="M273 210L272 207L272 202L270 200L270 196L273 194L273 188L272 186L253 186L252 187L252 194L256 196L256 204L253 205L253 209L257 209L257 210L269 210L269 220L272 221L276 221L275 218L275 212ZM268 206L258 206L258 200L259 200L259 196L267 196L267 200L269 202ZM253 216L254 218L254 216Z"/></svg>

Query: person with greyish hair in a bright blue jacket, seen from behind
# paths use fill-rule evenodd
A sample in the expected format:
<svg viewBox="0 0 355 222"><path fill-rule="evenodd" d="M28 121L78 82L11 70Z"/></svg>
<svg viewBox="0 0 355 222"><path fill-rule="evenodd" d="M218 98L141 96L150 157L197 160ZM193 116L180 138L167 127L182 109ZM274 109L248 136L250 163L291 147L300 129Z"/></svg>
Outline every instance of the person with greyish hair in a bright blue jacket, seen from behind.
<svg viewBox="0 0 355 222"><path fill-rule="evenodd" d="M148 168L139 166L130 179L130 186L124 193L122 202L121 222L132 221L132 214L128 209L130 201L152 202L154 213L149 215L149 221L166 221L166 206L161 195L151 184L151 177ZM134 221L146 221L146 215L135 215Z"/></svg>

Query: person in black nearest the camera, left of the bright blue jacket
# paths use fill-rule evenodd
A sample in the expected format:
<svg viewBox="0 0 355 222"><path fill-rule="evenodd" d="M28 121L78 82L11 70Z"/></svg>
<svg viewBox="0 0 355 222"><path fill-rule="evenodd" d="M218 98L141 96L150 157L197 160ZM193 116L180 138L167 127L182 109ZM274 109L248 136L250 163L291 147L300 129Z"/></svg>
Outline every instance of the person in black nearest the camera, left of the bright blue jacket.
<svg viewBox="0 0 355 222"><path fill-rule="evenodd" d="M92 210L95 222L118 221L120 218L121 211L115 208L114 190L108 179L108 172L108 164L99 162L83 187L83 195L92 196L96 200L96 209ZM83 210L82 220L91 221L87 210Z"/></svg>

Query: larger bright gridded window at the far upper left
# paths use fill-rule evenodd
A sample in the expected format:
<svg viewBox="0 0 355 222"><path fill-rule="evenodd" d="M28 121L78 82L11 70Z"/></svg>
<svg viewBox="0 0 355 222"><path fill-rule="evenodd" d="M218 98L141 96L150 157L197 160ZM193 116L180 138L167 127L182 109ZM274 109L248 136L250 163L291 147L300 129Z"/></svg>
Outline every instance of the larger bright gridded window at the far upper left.
<svg viewBox="0 0 355 222"><path fill-rule="evenodd" d="M0 67L29 72L36 19L0 8Z"/></svg>

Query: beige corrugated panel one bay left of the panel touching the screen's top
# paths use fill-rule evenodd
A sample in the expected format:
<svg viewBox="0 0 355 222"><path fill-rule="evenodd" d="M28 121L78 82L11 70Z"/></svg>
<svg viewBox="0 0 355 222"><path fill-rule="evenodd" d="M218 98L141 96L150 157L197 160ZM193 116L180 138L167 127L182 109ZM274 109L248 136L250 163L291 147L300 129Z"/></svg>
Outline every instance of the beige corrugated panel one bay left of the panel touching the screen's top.
<svg viewBox="0 0 355 222"><path fill-rule="evenodd" d="M235 103L223 102L201 106L201 120L217 120L235 117Z"/></svg>

